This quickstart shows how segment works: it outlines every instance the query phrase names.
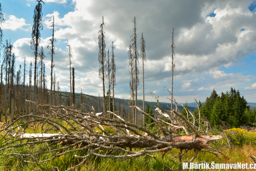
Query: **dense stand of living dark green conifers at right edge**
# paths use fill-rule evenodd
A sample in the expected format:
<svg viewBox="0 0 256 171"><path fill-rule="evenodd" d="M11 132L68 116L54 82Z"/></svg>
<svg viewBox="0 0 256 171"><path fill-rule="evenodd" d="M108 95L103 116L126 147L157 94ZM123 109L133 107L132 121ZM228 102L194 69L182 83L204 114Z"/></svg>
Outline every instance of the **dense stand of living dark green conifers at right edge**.
<svg viewBox="0 0 256 171"><path fill-rule="evenodd" d="M221 96L213 89L200 109L211 125L222 125L221 121L224 121L232 128L238 128L244 124L251 126L251 123L256 122L256 111L252 111L245 98L232 87L226 94L222 92Z"/></svg>

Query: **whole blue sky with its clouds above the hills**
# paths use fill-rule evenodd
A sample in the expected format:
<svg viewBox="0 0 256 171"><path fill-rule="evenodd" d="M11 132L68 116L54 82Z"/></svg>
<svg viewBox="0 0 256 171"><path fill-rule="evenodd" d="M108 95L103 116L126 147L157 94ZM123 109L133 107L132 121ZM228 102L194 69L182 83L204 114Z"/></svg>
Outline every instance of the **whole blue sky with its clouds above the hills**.
<svg viewBox="0 0 256 171"><path fill-rule="evenodd" d="M75 92L103 96L99 73L98 31L103 27L106 51L115 46L115 97L129 99L128 47L136 17L138 48L146 41L145 100L170 102L171 32L174 28L175 68L173 95L177 102L205 101L215 89L240 91L247 102L256 102L256 1L252 0L44 0L40 46L46 55L47 85L50 88L51 16L54 15L54 71L61 91L69 88L67 45L71 45L75 69ZM15 47L16 70L24 57L34 62L30 48L35 0L1 1L3 42ZM139 51L139 53L141 53ZM1 50L3 54L3 49ZM1 62L2 62L1 56ZM142 60L139 59L138 99L143 99ZM34 72L32 72L34 73ZM26 80L28 82L28 79ZM105 82L107 87L108 83ZM166 88L165 88L165 87Z"/></svg>

